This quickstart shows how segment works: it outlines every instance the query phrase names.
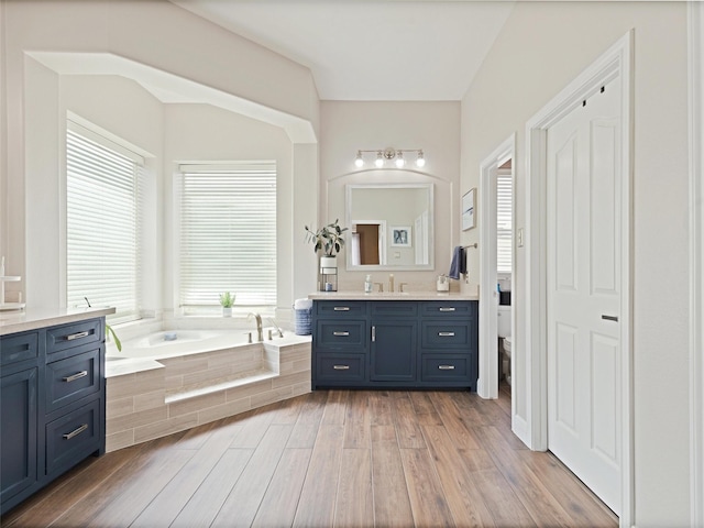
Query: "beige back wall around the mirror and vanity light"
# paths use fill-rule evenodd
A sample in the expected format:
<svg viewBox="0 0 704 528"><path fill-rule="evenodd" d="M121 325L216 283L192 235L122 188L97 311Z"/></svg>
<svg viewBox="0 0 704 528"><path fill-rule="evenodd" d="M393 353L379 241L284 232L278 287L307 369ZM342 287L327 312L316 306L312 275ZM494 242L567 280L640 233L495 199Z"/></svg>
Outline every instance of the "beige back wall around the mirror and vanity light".
<svg viewBox="0 0 704 528"><path fill-rule="evenodd" d="M436 277L448 273L452 248L459 240L460 105L459 102L323 101L320 112L320 219L345 219L345 185L432 183L435 191L435 270L371 272L374 282L409 283L408 289L432 289ZM358 150L422 148L426 166L408 170L354 166ZM367 157L373 161L374 156ZM411 162L415 158L411 156ZM371 167L371 168L370 168ZM309 249L312 253L312 248ZM348 272L341 253L341 289L362 290L370 272ZM315 273L315 271L311 271ZM453 288L460 288L453 282Z"/></svg>

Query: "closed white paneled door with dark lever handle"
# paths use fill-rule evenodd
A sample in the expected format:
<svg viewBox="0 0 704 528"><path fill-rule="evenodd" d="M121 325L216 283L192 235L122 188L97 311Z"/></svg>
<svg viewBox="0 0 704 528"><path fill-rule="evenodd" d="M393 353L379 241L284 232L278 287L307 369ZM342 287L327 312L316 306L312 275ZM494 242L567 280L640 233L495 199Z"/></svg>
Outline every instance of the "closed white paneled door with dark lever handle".
<svg viewBox="0 0 704 528"><path fill-rule="evenodd" d="M620 87L547 131L548 449L620 513Z"/></svg>

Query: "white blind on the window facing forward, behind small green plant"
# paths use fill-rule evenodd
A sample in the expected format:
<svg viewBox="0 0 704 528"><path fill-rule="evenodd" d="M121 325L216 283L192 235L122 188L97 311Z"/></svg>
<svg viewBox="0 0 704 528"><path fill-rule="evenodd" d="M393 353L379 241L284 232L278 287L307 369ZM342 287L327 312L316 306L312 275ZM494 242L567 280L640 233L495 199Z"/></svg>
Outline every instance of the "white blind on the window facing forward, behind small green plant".
<svg viewBox="0 0 704 528"><path fill-rule="evenodd" d="M179 300L185 314L276 306L276 165L180 167Z"/></svg>

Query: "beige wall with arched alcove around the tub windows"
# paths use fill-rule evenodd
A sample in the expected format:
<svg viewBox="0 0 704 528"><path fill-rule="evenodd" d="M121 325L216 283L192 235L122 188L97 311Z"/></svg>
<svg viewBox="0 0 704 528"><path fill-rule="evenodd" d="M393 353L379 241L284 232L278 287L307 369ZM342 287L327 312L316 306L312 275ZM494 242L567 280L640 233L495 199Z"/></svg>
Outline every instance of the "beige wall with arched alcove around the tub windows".
<svg viewBox="0 0 704 528"><path fill-rule="evenodd" d="M23 282L13 284L13 287L22 288L25 299L32 306L58 307L63 304L63 184L59 163L63 151L59 130L66 105L59 100L59 92L62 85L70 76L58 75L52 69L56 68L55 59L50 68L37 63L28 53L110 53L124 57L132 65L153 68L167 76L178 76L182 86L185 84L193 87L193 82L196 82L205 87L205 92L215 88L219 90L218 103L231 96L232 100L246 107L248 112L280 120L282 129L289 131L288 127L298 128L294 130L294 135L298 134L302 139L293 141L301 141L300 143L292 144L289 140L285 147L280 147L280 142L276 147L279 153L284 152L275 157L283 162L287 175L286 185L282 189L279 212L289 218L298 209L316 210L311 204L317 204L316 135L319 105L312 77L306 67L165 0L0 0L0 43L6 74L2 76L0 92L0 125L7 122L8 130L7 141L2 145L7 156L2 157L0 164L0 250L8 256L7 272L23 277ZM80 56L77 63L80 65ZM87 61L85 63L95 64ZM107 119L117 128L123 128L121 118L134 118L135 110L135 127L127 133L127 139L138 145L142 144L156 156L158 162L155 169L161 182L163 175L170 176L173 167L170 164L162 166L162 153L154 152L162 150L164 134L161 131L164 123L161 118L151 120L151 109L142 107L140 110L146 99L153 98L144 90L139 96L127 94L124 99L111 99L107 94L101 94L98 87L96 90L88 90L85 100L77 98L75 102L84 107L92 106L86 108L87 113L96 114L95 110L105 110L98 122ZM125 110L128 107L130 108ZM161 112L161 105L157 107ZM111 111L112 116L108 117ZM221 116L226 113L229 112L222 112ZM240 122L246 121L242 118ZM276 128L261 124L261 128ZM226 129L230 134L232 125L228 127ZM155 131L154 128L158 130ZM301 132L305 128L308 130ZM216 129L217 127L213 132ZM160 144L156 148L145 146L145 142L140 141L140 136L144 140L145 134L152 133ZM257 131L253 131L251 135L240 131L232 135L254 141L257 134ZM220 136L219 140L226 142L227 136ZM146 141L147 145L150 143L151 141ZM218 145L218 141L213 140L212 145ZM235 151L238 148L233 147L230 153ZM317 222L317 218L314 220ZM160 223L163 221L167 220L154 218L158 229L163 227ZM46 229L47 226L51 229ZM286 272L292 268L315 267L312 256L298 251L304 245L302 237L293 237L294 230L288 222L285 223L285 232L286 237L283 239L290 242L282 244L280 267ZM153 239L152 246L158 245L161 240ZM158 252L151 270L161 266L161 257L162 253ZM289 309L294 290L307 293L314 289L315 277L297 280L294 286L293 273L285 273L285 282L279 284L282 292L285 292L279 299L279 307ZM155 280L147 283L153 286ZM162 293L155 292L148 299L148 308L160 310L162 302L169 300L170 295L162 299Z"/></svg>

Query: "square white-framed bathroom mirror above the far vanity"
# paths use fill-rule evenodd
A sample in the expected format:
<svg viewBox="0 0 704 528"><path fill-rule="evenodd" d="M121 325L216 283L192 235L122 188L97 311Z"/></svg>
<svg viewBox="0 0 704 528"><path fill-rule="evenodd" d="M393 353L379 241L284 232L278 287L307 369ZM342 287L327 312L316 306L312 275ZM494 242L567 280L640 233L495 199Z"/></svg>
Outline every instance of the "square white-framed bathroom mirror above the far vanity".
<svg viewBox="0 0 704 528"><path fill-rule="evenodd" d="M349 271L433 268L432 184L348 184Z"/></svg>

